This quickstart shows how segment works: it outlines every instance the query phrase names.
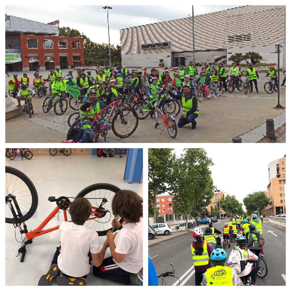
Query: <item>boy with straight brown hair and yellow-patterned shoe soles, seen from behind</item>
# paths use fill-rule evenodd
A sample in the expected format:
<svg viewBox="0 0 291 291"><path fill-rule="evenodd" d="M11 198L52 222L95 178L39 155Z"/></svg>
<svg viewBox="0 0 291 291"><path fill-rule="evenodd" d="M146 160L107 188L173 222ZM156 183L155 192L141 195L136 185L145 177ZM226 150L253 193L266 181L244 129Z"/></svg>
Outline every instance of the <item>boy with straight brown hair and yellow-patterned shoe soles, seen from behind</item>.
<svg viewBox="0 0 291 291"><path fill-rule="evenodd" d="M50 285L59 271L63 274L56 278L58 285L86 285L91 260L96 266L101 264L107 247L104 244L100 250L97 232L84 226L91 212L91 203L84 197L76 198L70 204L72 221L60 224L61 246L57 247L51 267L39 279L39 286Z"/></svg>

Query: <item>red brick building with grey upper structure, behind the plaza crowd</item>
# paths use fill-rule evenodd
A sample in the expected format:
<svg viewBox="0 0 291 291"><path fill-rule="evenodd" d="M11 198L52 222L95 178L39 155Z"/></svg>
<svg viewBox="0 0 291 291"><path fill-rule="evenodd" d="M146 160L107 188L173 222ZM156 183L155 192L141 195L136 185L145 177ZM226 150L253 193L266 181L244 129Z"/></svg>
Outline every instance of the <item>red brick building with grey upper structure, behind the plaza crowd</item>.
<svg viewBox="0 0 291 291"><path fill-rule="evenodd" d="M58 36L58 27L20 17L5 18L5 63L10 71L61 69L84 64L83 38ZM17 57L16 57L17 56Z"/></svg>

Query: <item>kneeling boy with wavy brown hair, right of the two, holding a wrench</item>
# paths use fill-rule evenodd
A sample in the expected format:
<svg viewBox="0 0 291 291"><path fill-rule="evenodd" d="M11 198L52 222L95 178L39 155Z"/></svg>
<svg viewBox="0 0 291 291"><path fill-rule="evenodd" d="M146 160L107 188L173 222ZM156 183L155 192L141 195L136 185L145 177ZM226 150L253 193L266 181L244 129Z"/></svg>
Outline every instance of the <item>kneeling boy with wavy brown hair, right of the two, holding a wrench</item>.
<svg viewBox="0 0 291 291"><path fill-rule="evenodd" d="M104 246L109 246L111 256L105 258L99 267L93 266L93 274L105 280L132 285L143 267L143 207L142 198L130 190L121 190L112 200L113 215L124 219L122 226L114 218L112 226L120 229L115 244L111 230L107 232ZM104 247L103 246L103 247Z"/></svg>

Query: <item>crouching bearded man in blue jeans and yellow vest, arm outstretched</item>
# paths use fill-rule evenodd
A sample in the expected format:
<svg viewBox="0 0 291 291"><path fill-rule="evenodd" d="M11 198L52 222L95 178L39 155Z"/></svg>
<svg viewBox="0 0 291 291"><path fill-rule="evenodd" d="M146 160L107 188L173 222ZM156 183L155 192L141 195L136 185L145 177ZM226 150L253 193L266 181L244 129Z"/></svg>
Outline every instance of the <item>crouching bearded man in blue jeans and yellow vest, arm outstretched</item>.
<svg viewBox="0 0 291 291"><path fill-rule="evenodd" d="M172 92L168 92L169 95L177 100L181 100L183 115L180 117L178 121L178 127L183 127L188 123L192 124L191 129L196 129L196 118L199 114L199 101L195 97L195 94L191 92L191 86L184 84L182 86L183 93L174 94ZM166 89L166 92L168 89Z"/></svg>

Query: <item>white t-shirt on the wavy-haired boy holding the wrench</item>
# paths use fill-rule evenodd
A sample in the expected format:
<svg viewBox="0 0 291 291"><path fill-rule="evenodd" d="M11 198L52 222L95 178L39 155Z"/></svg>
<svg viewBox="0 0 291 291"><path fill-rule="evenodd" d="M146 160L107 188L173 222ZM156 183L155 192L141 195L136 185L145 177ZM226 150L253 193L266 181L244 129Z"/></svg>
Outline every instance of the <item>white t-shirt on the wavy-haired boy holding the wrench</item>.
<svg viewBox="0 0 291 291"><path fill-rule="evenodd" d="M136 274L143 267L143 220L138 223L123 224L118 234L116 253L127 254L117 263L121 269Z"/></svg>

